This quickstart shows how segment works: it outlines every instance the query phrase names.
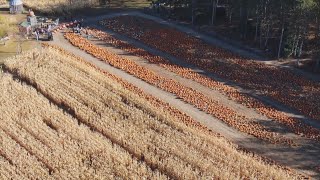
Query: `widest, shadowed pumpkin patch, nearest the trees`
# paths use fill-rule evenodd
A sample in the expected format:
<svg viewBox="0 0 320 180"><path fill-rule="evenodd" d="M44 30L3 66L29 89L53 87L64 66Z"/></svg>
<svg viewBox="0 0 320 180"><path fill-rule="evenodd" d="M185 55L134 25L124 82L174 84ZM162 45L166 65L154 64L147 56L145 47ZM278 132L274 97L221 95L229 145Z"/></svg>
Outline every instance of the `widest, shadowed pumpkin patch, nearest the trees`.
<svg viewBox="0 0 320 180"><path fill-rule="evenodd" d="M319 83L298 76L290 70L243 58L141 17L120 16L105 19L100 23L115 32L140 40L225 80L235 82L243 88L255 90L307 117L320 120Z"/></svg>

